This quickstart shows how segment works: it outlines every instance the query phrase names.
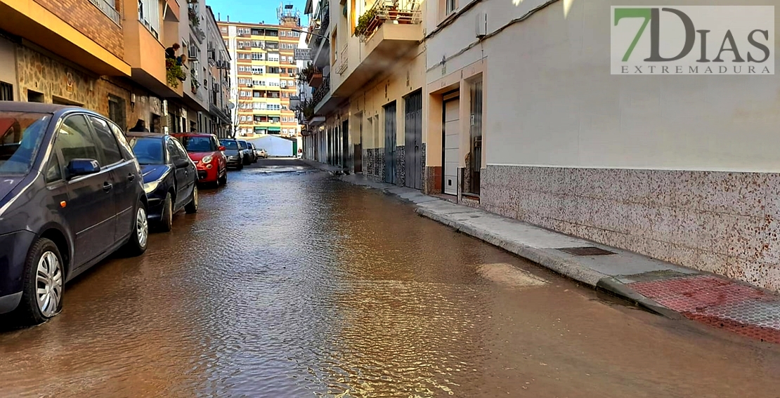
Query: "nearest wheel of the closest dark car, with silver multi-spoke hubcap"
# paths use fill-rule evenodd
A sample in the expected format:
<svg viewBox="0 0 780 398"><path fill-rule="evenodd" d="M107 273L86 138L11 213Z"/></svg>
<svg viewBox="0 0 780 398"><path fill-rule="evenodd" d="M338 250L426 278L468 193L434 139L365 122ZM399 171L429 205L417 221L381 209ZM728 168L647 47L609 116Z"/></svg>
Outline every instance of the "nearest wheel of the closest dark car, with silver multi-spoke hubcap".
<svg viewBox="0 0 780 398"><path fill-rule="evenodd" d="M62 310L65 268L57 245L40 238L25 262L22 300L16 308L23 326L46 322Z"/></svg>

